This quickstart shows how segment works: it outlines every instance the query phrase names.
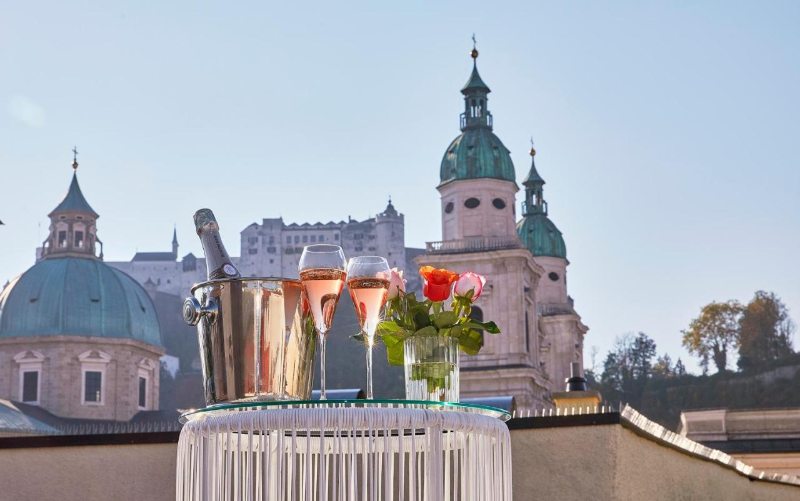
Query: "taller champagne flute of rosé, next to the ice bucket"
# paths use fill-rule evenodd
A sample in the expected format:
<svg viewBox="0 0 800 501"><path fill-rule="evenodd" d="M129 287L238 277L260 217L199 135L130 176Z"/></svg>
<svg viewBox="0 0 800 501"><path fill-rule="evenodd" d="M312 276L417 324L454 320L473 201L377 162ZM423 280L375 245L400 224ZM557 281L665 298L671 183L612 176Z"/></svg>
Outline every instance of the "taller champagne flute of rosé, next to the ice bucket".
<svg viewBox="0 0 800 501"><path fill-rule="evenodd" d="M327 399L325 338L333 324L336 303L344 287L346 262L344 252L338 245L309 245L300 256L300 281L308 297L314 327L319 335L320 400Z"/></svg>

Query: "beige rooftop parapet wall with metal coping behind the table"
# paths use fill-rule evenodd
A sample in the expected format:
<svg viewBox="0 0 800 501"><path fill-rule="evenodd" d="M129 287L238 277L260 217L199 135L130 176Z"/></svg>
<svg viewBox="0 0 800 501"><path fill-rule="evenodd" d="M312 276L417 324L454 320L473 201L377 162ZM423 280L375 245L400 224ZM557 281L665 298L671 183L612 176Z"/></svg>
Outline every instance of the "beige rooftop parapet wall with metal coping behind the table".
<svg viewBox="0 0 800 501"><path fill-rule="evenodd" d="M766 476L648 423L629 408L512 420L515 499L800 499L796 477ZM0 498L173 500L177 439L172 432L0 438Z"/></svg>

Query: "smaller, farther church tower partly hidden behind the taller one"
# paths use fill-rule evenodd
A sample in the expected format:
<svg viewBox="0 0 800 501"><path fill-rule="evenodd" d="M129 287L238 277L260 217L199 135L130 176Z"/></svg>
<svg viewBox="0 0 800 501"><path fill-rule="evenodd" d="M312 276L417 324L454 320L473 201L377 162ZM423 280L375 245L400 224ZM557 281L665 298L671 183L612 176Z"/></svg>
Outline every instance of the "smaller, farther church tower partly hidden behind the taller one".
<svg viewBox="0 0 800 501"><path fill-rule="evenodd" d="M519 238L533 254L544 273L536 288L538 327L542 333L542 369L560 391L570 376L571 364L583 371L583 336L588 328L581 322L567 295L567 247L561 231L548 217L544 179L536 170L536 150L531 142L531 168L523 181L523 217L517 225Z"/></svg>

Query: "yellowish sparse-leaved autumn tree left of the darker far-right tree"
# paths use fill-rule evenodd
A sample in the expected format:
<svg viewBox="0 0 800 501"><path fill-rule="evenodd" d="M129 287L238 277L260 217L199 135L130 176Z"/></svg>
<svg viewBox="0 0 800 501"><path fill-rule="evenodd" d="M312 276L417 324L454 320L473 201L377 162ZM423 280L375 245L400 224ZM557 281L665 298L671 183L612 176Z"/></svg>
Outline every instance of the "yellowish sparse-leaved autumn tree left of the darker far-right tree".
<svg viewBox="0 0 800 501"><path fill-rule="evenodd" d="M683 346L700 357L700 363L714 361L718 372L728 365L728 352L739 345L739 318L742 305L736 301L713 302L703 306L700 316L692 320L689 329L682 331Z"/></svg>

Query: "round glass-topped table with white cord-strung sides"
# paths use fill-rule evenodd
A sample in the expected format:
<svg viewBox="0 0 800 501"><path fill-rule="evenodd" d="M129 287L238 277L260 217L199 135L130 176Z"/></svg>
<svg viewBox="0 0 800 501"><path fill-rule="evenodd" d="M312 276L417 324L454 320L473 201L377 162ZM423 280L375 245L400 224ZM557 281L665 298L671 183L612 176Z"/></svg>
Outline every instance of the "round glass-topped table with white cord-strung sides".
<svg viewBox="0 0 800 501"><path fill-rule="evenodd" d="M221 404L186 413L178 500L511 500L494 407L407 400Z"/></svg>

